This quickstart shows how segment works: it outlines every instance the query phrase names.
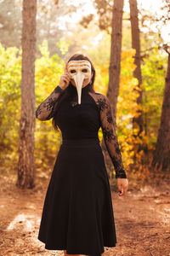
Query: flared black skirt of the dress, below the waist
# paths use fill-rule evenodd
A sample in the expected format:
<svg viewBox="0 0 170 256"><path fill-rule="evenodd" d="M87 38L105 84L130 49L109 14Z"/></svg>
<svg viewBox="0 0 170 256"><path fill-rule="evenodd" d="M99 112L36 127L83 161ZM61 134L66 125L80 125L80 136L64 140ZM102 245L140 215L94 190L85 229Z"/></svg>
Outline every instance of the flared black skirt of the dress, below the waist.
<svg viewBox="0 0 170 256"><path fill-rule="evenodd" d="M64 139L42 209L38 239L48 250L100 256L116 247L111 188L99 138Z"/></svg>

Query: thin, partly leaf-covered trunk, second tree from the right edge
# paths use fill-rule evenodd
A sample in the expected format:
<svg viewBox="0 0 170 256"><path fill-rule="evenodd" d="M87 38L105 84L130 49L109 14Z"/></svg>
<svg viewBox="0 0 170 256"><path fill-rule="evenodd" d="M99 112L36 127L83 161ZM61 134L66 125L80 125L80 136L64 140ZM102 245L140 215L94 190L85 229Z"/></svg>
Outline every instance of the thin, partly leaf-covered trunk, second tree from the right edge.
<svg viewBox="0 0 170 256"><path fill-rule="evenodd" d="M134 64L136 65L135 70L133 71L133 77L138 79L137 90L139 91L139 96L137 98L137 104L139 107L138 117L133 117L133 129L139 129L138 135L134 137L140 137L140 133L143 131L144 121L142 115L142 74L140 67L140 37L139 37L139 18L138 18L138 7L137 0L129 0L130 4L130 20L131 20L131 31L132 31L132 47L136 50L134 56ZM139 152L142 147L137 146L137 152ZM136 150L135 150L136 151ZM134 156L135 158L135 156Z"/></svg>

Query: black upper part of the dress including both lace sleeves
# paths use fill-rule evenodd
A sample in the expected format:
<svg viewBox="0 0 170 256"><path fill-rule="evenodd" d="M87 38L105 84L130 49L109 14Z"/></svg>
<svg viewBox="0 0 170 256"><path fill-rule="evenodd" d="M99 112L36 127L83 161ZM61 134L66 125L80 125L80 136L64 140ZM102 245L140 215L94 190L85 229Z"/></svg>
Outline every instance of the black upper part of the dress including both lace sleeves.
<svg viewBox="0 0 170 256"><path fill-rule="evenodd" d="M71 83L65 89L68 95L59 102L60 94L65 93L59 85L37 107L36 117L40 120L55 119L63 139L99 138L98 131L102 128L105 146L115 167L116 178L126 178L122 165L122 154L116 137L116 127L109 99L91 90L91 84L82 87L81 104L78 104L77 88Z"/></svg>

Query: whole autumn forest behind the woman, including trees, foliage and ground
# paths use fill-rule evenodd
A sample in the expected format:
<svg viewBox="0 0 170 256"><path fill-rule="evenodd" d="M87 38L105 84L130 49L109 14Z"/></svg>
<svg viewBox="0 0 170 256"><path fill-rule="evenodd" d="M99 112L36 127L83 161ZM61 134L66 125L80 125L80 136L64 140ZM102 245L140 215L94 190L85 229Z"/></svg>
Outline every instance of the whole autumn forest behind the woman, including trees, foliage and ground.
<svg viewBox="0 0 170 256"><path fill-rule="evenodd" d="M37 240L62 135L35 113L76 52L111 102L129 183L119 198L100 128L118 240L105 256L170 255L169 0L1 0L0 35L0 255L64 256Z"/></svg>

